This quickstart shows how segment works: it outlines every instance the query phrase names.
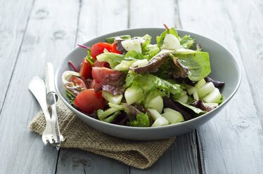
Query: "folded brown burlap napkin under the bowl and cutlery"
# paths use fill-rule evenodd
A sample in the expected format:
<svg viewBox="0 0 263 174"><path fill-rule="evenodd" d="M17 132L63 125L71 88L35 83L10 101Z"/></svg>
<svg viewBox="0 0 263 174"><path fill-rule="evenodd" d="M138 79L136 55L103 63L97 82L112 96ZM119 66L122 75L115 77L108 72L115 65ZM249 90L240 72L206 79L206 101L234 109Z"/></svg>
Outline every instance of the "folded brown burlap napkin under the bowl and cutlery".
<svg viewBox="0 0 263 174"><path fill-rule="evenodd" d="M87 126L61 100L58 100L57 104L60 132L66 138L61 147L83 149L117 159L129 166L148 168L174 142L174 138L158 141L134 141L115 138ZM45 125L44 114L39 112L30 123L30 129L41 135Z"/></svg>

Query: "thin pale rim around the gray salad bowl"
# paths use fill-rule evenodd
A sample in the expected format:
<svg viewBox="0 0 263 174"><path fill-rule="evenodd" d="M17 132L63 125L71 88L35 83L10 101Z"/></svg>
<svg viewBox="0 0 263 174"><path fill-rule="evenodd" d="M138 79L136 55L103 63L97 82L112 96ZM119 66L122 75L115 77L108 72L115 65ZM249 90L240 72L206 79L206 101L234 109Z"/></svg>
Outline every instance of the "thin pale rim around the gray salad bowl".
<svg viewBox="0 0 263 174"><path fill-rule="evenodd" d="M96 36L95 38L93 39L90 39L89 41L86 41L83 45L86 45L87 42L90 42L90 41L94 41L96 40L98 37L103 37L103 36L108 36L110 34L116 34L118 32L131 32L131 31L134 31L134 30L140 30L140 29L163 29L163 28L160 28L160 27L143 27L143 28L131 28L131 29L122 29L122 30L118 30L116 32L110 32L108 34L103 34L103 35L100 35L100 36ZM231 51L229 51L228 48L226 48L226 46L224 46L223 44L220 44L218 41L214 41L213 39L210 39L210 37L207 37L207 36L204 36L204 35L201 35L201 34L197 34L195 32L189 32L185 29L177 29L177 31L179 32L186 32L187 34L191 35L191 34L195 34L195 35L198 35L198 36L201 36L201 37L204 37L205 39L208 39L212 42L214 42L215 44L219 44L219 46L222 46L227 52L230 53L230 55L233 57L233 60L235 60L236 62L236 65L238 67L238 83L236 85L236 88L233 90L233 92L231 93L231 95L229 95L229 98L227 98L226 100L224 100L222 102L221 105L219 105L218 107L216 107L215 109L212 109L212 111L210 112L207 112L203 115L200 115L198 117L195 117L193 119L190 119L188 121L184 121L184 122L181 122L181 123L175 123L175 124L169 124L167 126L158 126L158 127L132 127L132 126L122 126L122 125L117 125L117 124L113 124L113 123L107 123L107 122L104 122L104 121L101 121L101 120L98 120L98 119L94 119L90 116L87 116L86 114L82 113L82 112L79 112L77 109L75 109L75 107L72 107L68 101L66 101L63 96L60 94L60 92L58 91L58 83L56 83L58 81L58 78L61 78L61 77L58 77L58 74L59 74L59 69L61 69L63 62L65 62L65 59L68 57L68 55L70 55L70 53L76 51L77 49L80 49L79 47L75 48L74 50L72 50L62 61L60 61L60 64L58 65L58 67L56 68L56 74L55 74L55 86L56 86L56 91L58 93L58 96L60 97L61 100L63 100L64 104L69 107L69 109L73 109L75 110L75 112L77 112L77 114L80 114L84 117L87 117L88 119L93 119L93 121L96 121L97 123L101 123L102 126L113 126L115 128L123 128L123 129L132 129L132 130L159 130L159 129L166 129L166 128L172 128L172 127L177 127L177 126L186 126L190 123L194 123L195 121L198 121L200 119L202 119L203 117L207 116L208 114L212 114L213 112L216 112L218 109L220 109L221 107L224 107L224 105L226 105L227 102L229 102L229 100L231 100L231 98L233 98L233 95L236 94L236 92L238 91L238 88L240 86L240 83L241 83L241 79L242 79L242 72L241 72L241 67L240 67L240 63L238 62L237 58L235 55L233 55L233 53ZM76 114L76 115L77 115Z"/></svg>

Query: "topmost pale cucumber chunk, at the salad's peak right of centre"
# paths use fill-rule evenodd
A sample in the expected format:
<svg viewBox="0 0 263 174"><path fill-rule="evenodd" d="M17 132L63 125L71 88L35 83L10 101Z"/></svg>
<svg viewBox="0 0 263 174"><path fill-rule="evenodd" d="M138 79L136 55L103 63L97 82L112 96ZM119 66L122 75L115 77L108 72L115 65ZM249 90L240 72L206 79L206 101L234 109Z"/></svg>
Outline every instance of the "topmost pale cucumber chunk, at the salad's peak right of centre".
<svg viewBox="0 0 263 174"><path fill-rule="evenodd" d="M163 40L162 48L167 50L178 50L181 46L176 36L173 34L166 34L165 39Z"/></svg>

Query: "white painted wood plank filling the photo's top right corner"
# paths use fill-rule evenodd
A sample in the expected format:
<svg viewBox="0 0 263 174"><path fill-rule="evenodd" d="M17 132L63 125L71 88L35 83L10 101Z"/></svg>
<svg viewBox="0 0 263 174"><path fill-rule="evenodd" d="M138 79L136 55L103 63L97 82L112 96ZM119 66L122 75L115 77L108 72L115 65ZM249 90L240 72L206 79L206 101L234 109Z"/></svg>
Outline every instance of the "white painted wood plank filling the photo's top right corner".
<svg viewBox="0 0 263 174"><path fill-rule="evenodd" d="M224 1L263 126L263 1ZM240 15L242 14L242 15Z"/></svg>

